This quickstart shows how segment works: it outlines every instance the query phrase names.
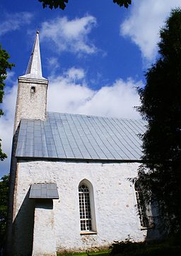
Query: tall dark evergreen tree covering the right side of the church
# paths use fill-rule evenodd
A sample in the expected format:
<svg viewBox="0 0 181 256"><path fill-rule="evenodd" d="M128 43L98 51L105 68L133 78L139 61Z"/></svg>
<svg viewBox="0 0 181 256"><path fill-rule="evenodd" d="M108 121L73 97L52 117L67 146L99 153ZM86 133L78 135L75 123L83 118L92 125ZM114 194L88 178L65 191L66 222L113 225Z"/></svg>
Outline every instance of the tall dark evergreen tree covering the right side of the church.
<svg viewBox="0 0 181 256"><path fill-rule="evenodd" d="M181 9L160 30L160 57L139 89L139 111L148 122L143 135L139 180L146 200L154 195L165 230L181 230Z"/></svg>

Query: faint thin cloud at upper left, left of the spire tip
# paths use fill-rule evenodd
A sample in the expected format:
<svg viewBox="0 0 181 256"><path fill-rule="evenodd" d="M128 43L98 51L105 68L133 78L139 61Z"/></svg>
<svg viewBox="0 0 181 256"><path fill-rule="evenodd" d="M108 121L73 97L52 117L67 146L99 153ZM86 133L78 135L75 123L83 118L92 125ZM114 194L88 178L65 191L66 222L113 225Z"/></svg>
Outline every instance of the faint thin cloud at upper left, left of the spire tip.
<svg viewBox="0 0 181 256"><path fill-rule="evenodd" d="M33 14L27 11L19 13L6 13L4 21L0 23L0 36L9 31L18 30L25 24L29 24L33 18Z"/></svg>

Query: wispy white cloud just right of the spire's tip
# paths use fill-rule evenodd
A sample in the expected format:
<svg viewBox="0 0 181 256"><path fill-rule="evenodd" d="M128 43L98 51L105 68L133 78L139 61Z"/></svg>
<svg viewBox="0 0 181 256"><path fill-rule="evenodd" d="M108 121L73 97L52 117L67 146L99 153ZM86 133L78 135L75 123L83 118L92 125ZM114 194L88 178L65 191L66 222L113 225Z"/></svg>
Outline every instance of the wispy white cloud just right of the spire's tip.
<svg viewBox="0 0 181 256"><path fill-rule="evenodd" d="M96 18L84 16L68 20L66 17L55 18L42 23L41 38L56 45L56 50L74 53L93 54L98 49L91 43L88 34L96 25Z"/></svg>

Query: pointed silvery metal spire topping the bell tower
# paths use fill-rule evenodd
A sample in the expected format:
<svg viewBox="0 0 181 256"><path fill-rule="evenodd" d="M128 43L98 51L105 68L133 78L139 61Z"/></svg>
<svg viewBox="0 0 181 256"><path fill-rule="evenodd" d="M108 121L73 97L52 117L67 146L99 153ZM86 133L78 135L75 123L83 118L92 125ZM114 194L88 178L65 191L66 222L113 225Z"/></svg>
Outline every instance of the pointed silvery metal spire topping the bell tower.
<svg viewBox="0 0 181 256"><path fill-rule="evenodd" d="M37 31L35 43L33 45L33 51L30 55L28 67L25 74L22 76L25 78L33 79L45 79L42 77L42 65L40 57L40 43L39 43L39 31Z"/></svg>

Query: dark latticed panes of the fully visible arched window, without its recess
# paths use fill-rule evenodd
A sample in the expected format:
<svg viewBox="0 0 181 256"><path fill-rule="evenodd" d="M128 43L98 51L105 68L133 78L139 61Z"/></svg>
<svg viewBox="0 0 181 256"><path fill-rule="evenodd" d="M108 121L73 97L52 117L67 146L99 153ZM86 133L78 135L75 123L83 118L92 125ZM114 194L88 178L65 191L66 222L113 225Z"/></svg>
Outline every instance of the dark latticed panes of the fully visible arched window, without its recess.
<svg viewBox="0 0 181 256"><path fill-rule="evenodd" d="M78 188L81 231L92 230L90 193L85 184Z"/></svg>

